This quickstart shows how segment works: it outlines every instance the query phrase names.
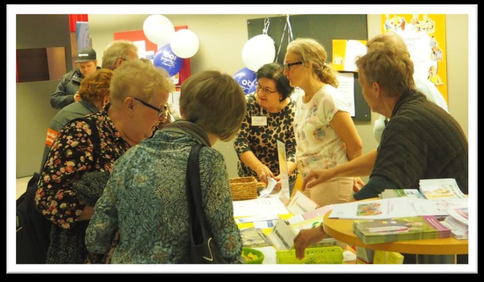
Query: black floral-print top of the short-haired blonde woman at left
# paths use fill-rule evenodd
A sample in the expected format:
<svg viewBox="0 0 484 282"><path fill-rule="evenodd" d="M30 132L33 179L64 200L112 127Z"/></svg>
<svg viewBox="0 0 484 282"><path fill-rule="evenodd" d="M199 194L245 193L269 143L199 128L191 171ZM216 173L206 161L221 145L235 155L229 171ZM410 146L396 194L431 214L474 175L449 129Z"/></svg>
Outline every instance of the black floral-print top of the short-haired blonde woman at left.
<svg viewBox="0 0 484 282"><path fill-rule="evenodd" d="M84 121L69 122L59 132L47 156L35 197L36 207L48 220L71 229L82 214L85 203L76 196L73 183L89 171L112 171L115 161L131 146L114 127L107 114L109 105L94 119L99 131L103 167L94 163L91 130Z"/></svg>

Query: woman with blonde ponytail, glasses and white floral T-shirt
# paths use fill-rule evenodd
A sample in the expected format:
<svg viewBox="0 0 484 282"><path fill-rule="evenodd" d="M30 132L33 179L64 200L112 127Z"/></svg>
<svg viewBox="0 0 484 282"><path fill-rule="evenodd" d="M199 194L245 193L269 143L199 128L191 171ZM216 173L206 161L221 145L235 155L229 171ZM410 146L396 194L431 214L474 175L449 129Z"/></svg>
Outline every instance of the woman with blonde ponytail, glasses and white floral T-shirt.
<svg viewBox="0 0 484 282"><path fill-rule="evenodd" d="M335 70L317 41L299 38L287 47L284 75L304 91L296 103L294 134L297 166L303 177L311 170L339 166L361 155L362 143L338 91ZM319 206L347 202L359 178L334 178L303 192Z"/></svg>

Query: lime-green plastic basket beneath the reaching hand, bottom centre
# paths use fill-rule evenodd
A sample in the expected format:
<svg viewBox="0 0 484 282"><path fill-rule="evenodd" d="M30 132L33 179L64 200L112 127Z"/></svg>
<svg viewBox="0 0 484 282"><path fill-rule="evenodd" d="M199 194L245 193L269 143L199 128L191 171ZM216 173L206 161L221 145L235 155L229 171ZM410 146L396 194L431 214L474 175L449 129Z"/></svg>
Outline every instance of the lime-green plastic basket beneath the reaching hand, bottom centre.
<svg viewBox="0 0 484 282"><path fill-rule="evenodd" d="M343 249L341 247L307 248L304 258L296 257L296 250L277 251L277 264L342 264Z"/></svg>

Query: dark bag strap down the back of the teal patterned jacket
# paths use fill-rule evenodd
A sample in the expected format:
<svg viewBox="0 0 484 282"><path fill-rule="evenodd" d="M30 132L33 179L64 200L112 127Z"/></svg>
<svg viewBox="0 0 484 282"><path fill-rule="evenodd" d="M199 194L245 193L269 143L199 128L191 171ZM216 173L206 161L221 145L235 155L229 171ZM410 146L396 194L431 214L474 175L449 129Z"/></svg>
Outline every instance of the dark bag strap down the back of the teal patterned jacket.
<svg viewBox="0 0 484 282"><path fill-rule="evenodd" d="M204 237L208 238L208 228L205 212L202 208L202 193L200 187L200 166L198 164L198 154L204 145L195 144L188 156L186 170L186 196L188 200L189 231L190 240L199 245L203 243ZM200 236L202 235L202 236Z"/></svg>

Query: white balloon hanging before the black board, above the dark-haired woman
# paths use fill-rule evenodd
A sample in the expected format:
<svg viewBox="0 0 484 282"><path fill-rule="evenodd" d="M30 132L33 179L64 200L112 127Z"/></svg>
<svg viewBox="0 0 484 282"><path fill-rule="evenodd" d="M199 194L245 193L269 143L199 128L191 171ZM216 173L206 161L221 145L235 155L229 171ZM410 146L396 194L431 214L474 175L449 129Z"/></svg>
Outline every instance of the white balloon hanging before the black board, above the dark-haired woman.
<svg viewBox="0 0 484 282"><path fill-rule="evenodd" d="M242 49L242 61L252 71L257 71L263 65L272 63L274 57L274 41L266 34L256 35L249 39Z"/></svg>

